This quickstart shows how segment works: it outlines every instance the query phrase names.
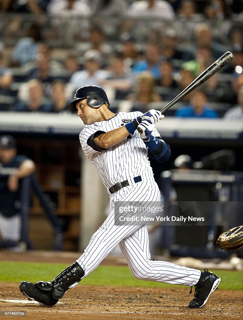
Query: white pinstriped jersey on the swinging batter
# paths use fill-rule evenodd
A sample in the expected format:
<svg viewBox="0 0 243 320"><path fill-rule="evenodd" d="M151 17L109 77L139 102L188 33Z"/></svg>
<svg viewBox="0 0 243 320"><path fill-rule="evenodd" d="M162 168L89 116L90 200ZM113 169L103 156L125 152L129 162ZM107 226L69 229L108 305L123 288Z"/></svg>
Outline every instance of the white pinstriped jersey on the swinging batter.
<svg viewBox="0 0 243 320"><path fill-rule="evenodd" d="M103 184L108 188L116 182L129 180L129 177L136 177L146 174L147 178L153 178L153 171L150 166L148 149L136 130L133 134L120 143L105 149L102 152L95 151L87 144L88 138L97 131L108 132L125 125L127 121L133 120L142 115L141 112L119 112L116 116L86 125L80 132L80 144L82 149L97 169L99 170ZM154 136L158 137L159 132L154 129Z"/></svg>

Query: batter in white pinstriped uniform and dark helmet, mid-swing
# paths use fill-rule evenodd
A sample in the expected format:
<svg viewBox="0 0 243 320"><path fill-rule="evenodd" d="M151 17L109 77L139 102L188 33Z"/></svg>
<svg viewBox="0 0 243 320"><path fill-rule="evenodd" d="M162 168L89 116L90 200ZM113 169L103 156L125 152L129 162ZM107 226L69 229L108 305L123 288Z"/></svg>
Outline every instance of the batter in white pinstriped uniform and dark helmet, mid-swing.
<svg viewBox="0 0 243 320"><path fill-rule="evenodd" d="M87 159L93 163L110 196L111 212L103 225L91 237L84 253L71 266L50 282L35 284L23 281L20 291L43 307L52 307L69 288L89 275L110 251L119 244L128 266L138 279L169 284L195 286L194 299L189 308L201 308L221 279L215 274L166 261L150 258L148 231L144 225L115 224L115 202L157 203L160 191L154 180L149 156L163 163L171 151L155 129L163 118L160 111L119 112L109 110L104 90L98 86L84 86L74 94L69 110L76 111L85 124L80 143ZM141 133L137 131L140 128ZM148 217L150 212L146 212ZM190 293L191 293L190 291Z"/></svg>

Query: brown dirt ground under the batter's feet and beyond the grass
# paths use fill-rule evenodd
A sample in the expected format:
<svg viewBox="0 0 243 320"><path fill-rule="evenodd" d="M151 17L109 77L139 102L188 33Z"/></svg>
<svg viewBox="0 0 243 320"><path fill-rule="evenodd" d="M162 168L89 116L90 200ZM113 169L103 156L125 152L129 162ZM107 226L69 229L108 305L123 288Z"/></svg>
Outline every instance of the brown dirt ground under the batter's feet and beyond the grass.
<svg viewBox="0 0 243 320"><path fill-rule="evenodd" d="M62 263L72 263L78 254L59 253ZM43 262L57 262L53 253L44 252ZM0 260L36 261L40 254L10 253L8 256L0 252ZM116 264L106 259L103 264ZM14 270L13 270L14 271ZM210 295L207 304L191 310L187 308L193 294L188 297L189 287L174 288L140 288L140 287L101 287L82 286L81 283L52 308L42 308L35 301L28 301L19 292L18 284L0 284L0 311L25 311L25 316L4 316L0 319L85 319L85 320L232 320L242 319L242 292L219 289ZM7 302L6 300L19 300Z"/></svg>

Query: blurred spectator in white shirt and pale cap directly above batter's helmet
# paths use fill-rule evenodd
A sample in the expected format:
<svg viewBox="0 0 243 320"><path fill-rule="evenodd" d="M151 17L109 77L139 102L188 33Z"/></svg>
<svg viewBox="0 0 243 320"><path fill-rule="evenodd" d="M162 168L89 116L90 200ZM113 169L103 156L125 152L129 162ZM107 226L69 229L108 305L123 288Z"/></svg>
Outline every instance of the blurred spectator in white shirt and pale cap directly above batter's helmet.
<svg viewBox="0 0 243 320"><path fill-rule="evenodd" d="M99 81L108 75L108 71L101 69L102 56L99 51L90 49L85 52L83 59L84 69L74 72L69 80L73 91L84 85L99 85Z"/></svg>

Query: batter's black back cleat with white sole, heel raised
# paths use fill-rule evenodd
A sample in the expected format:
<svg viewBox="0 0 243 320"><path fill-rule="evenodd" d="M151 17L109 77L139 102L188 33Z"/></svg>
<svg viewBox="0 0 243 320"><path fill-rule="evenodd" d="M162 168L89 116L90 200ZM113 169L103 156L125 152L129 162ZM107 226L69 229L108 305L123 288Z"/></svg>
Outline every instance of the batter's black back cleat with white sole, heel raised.
<svg viewBox="0 0 243 320"><path fill-rule="evenodd" d="M206 271L207 270L207 271ZM188 307L201 308L207 302L210 294L218 288L221 279L214 273L204 269L197 284L195 284L194 299L189 302ZM192 287L189 295L192 293Z"/></svg>

